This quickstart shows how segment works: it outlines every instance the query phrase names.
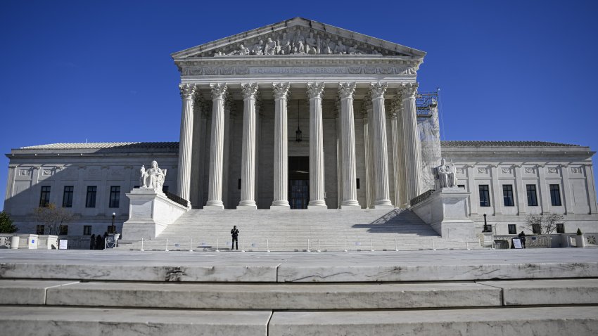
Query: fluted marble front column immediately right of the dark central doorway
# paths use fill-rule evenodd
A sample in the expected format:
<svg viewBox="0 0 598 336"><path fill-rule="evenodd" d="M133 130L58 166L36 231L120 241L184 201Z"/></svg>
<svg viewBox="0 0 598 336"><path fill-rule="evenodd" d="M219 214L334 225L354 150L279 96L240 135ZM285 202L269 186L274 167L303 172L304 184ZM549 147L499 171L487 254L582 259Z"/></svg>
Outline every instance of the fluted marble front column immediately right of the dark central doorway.
<svg viewBox="0 0 598 336"><path fill-rule="evenodd" d="M307 83L310 99L310 203L307 209L326 209L324 200L324 131L322 129L324 83Z"/></svg>

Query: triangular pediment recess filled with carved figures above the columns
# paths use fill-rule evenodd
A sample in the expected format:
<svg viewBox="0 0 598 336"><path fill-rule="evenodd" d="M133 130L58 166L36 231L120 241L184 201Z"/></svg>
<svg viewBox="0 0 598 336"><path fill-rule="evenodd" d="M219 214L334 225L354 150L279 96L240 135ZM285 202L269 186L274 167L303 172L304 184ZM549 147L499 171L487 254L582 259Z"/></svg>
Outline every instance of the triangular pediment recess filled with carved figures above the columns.
<svg viewBox="0 0 598 336"><path fill-rule="evenodd" d="M308 27L292 27L222 46L203 56L400 55L378 46Z"/></svg>

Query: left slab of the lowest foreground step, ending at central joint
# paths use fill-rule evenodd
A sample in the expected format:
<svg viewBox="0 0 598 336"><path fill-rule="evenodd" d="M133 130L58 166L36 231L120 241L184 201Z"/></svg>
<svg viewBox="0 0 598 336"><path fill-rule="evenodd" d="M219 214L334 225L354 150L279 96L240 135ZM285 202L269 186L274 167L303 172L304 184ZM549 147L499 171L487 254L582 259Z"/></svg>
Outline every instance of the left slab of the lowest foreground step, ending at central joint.
<svg viewBox="0 0 598 336"><path fill-rule="evenodd" d="M269 311L0 306L3 335L266 335Z"/></svg>

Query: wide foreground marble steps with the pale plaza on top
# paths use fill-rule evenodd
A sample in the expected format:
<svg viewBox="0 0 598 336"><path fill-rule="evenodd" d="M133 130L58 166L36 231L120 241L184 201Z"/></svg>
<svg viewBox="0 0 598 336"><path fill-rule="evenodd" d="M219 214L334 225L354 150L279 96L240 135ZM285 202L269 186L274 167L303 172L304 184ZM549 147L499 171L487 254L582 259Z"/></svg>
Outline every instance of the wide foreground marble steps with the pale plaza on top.
<svg viewBox="0 0 598 336"><path fill-rule="evenodd" d="M0 260L3 335L598 332L594 249L8 250Z"/></svg>

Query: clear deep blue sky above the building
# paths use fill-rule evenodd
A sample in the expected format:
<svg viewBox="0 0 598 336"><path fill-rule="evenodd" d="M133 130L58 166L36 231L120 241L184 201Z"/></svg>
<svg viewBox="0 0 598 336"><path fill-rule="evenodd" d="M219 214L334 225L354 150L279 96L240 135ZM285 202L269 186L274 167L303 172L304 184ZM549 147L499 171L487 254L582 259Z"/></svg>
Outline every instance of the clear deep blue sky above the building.
<svg viewBox="0 0 598 336"><path fill-rule="evenodd" d="M0 152L178 141L170 54L296 16L426 51L420 91L441 88L443 140L598 150L598 1L3 0Z"/></svg>

